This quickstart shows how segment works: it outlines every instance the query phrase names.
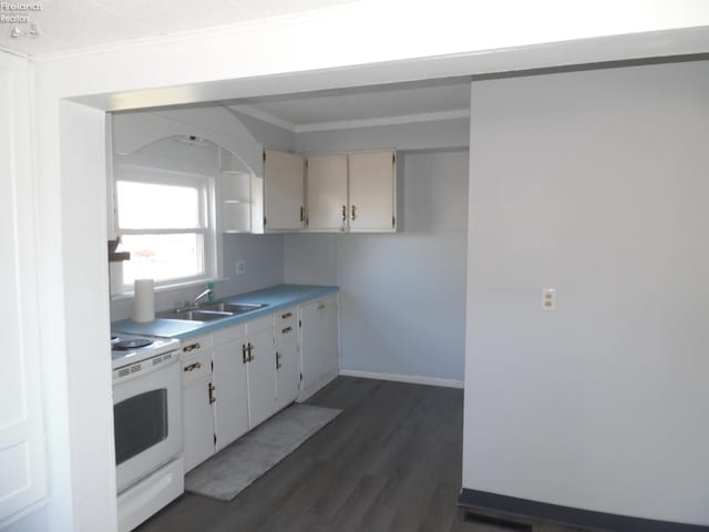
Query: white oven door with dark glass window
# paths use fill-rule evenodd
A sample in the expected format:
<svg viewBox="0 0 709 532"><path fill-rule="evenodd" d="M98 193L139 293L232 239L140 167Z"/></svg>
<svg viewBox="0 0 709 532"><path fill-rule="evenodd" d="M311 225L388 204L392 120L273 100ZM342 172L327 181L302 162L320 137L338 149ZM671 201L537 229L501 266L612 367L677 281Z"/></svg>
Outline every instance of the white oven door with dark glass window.
<svg viewBox="0 0 709 532"><path fill-rule="evenodd" d="M182 453L179 365L144 368L113 383L119 493Z"/></svg>

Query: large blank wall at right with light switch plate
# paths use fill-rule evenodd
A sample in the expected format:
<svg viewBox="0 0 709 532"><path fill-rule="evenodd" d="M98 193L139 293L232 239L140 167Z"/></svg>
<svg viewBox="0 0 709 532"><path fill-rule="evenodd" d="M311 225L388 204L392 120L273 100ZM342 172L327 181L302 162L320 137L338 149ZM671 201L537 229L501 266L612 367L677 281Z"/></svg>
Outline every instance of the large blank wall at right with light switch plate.
<svg viewBox="0 0 709 532"><path fill-rule="evenodd" d="M707 62L472 84L464 489L709 525L708 94Z"/></svg>

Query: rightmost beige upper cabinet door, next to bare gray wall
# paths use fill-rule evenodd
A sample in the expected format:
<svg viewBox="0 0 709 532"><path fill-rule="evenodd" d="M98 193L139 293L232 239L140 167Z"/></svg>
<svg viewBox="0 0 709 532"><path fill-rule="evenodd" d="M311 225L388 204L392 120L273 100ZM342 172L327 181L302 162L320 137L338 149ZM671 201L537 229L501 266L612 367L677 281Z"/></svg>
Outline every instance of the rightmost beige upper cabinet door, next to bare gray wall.
<svg viewBox="0 0 709 532"><path fill-rule="evenodd" d="M351 232L394 229L394 166L392 150L349 154Z"/></svg>

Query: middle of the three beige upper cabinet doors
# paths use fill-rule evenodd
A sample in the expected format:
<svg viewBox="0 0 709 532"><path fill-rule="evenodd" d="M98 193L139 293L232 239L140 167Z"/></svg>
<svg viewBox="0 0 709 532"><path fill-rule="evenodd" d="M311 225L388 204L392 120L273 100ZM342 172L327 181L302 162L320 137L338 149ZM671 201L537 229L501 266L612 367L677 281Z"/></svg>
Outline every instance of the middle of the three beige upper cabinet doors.
<svg viewBox="0 0 709 532"><path fill-rule="evenodd" d="M309 231L347 231L347 154L310 155L307 163Z"/></svg>

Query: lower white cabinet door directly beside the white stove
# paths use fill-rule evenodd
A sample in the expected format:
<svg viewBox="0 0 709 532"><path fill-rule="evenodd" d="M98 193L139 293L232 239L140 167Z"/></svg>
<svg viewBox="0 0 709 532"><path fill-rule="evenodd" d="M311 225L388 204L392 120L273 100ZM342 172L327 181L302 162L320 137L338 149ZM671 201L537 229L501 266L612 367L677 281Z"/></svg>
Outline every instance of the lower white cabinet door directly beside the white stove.
<svg viewBox="0 0 709 532"><path fill-rule="evenodd" d="M209 403L210 386L210 379L202 379L192 382L182 390L185 473L214 454L214 415Z"/></svg>

